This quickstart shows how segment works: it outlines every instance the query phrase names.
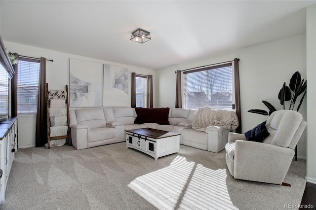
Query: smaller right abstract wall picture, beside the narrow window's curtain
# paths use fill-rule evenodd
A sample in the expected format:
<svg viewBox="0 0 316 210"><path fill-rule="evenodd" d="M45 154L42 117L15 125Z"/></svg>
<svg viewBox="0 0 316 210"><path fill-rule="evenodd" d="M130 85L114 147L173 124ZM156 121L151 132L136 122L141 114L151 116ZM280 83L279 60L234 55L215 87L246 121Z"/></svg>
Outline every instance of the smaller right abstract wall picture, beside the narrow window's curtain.
<svg viewBox="0 0 316 210"><path fill-rule="evenodd" d="M128 69L103 65L103 106L129 106Z"/></svg>

